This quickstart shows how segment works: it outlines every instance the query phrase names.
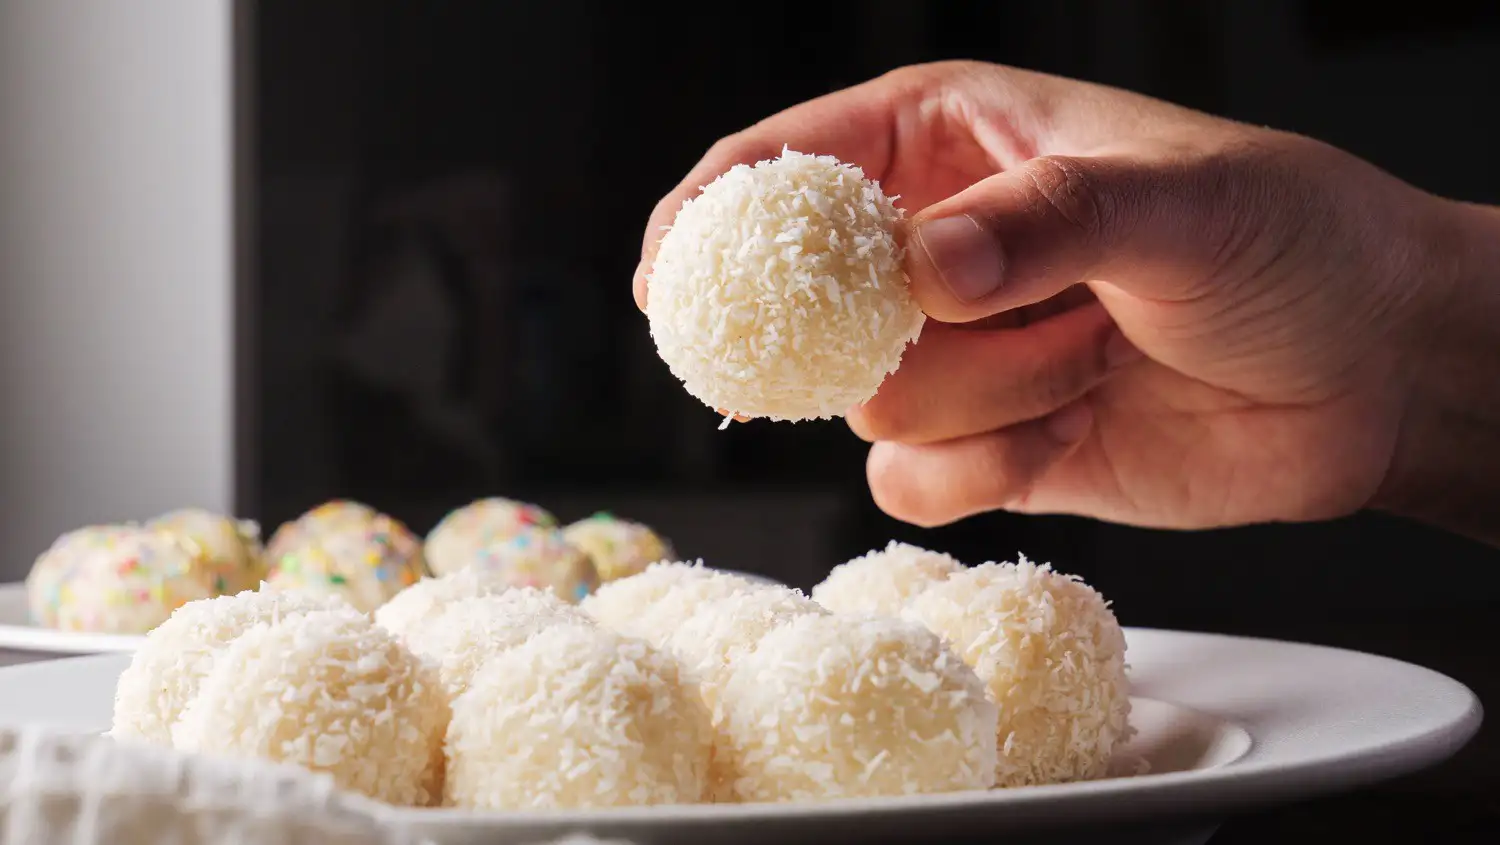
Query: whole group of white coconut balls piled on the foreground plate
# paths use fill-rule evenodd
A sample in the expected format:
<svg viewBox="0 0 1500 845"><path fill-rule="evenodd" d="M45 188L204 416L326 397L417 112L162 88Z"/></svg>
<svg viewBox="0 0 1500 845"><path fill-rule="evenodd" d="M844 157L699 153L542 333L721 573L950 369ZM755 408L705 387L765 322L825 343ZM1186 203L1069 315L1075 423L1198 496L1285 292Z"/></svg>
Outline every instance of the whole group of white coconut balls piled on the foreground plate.
<svg viewBox="0 0 1500 845"><path fill-rule="evenodd" d="M122 675L111 735L408 806L987 789L1104 776L1124 657L1107 602L1024 558L892 543L812 597L657 563L580 605L471 567L374 614L304 590L188 603Z"/></svg>

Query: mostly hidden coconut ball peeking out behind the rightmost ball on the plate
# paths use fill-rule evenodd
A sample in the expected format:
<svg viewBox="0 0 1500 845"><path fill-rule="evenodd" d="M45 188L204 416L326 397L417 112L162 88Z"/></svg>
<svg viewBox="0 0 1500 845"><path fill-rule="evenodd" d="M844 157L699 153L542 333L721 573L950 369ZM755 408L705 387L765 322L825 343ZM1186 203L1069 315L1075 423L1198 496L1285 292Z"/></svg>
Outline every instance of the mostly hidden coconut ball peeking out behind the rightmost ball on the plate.
<svg viewBox="0 0 1500 845"><path fill-rule="evenodd" d="M813 587L813 600L836 614L897 615L914 596L962 569L951 555L891 540L836 566Z"/></svg>

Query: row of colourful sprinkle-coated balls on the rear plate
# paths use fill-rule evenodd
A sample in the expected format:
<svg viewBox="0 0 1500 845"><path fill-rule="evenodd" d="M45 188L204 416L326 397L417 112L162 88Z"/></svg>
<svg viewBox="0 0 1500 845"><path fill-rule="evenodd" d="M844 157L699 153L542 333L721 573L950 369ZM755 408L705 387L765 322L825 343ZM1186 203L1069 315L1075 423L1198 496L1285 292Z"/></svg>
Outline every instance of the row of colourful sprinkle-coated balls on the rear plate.
<svg viewBox="0 0 1500 845"><path fill-rule="evenodd" d="M488 497L418 539L394 516L340 498L282 524L264 546L255 522L202 509L78 528L38 557L27 596L32 617L48 627L144 633L186 602L262 581L374 611L424 575L478 566L576 602L669 557L670 545L650 527L609 513L562 525L540 506Z"/></svg>

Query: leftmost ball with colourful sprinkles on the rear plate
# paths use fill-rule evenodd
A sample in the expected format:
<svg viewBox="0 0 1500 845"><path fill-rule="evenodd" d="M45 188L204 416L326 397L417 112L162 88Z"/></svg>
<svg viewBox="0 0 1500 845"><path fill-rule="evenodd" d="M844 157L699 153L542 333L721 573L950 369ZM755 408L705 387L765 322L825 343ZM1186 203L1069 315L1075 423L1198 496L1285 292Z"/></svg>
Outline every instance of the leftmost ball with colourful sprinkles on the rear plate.
<svg viewBox="0 0 1500 845"><path fill-rule="evenodd" d="M196 543L141 525L69 531L27 578L33 617L62 630L146 633L213 594L208 558Z"/></svg>

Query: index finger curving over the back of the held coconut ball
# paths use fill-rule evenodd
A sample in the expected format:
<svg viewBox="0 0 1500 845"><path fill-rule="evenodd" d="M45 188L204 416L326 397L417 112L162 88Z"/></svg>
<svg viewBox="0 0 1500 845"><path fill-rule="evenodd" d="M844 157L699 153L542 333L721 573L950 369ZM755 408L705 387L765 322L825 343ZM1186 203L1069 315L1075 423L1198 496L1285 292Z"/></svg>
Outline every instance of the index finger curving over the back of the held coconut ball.
<svg viewBox="0 0 1500 845"><path fill-rule="evenodd" d="M636 305L645 311L646 275L657 245L682 203L736 164L772 159L782 155L783 147L790 147L800 153L834 156L861 167L868 179L884 180L896 150L897 86L880 77L810 99L720 138L651 210L636 267Z"/></svg>

